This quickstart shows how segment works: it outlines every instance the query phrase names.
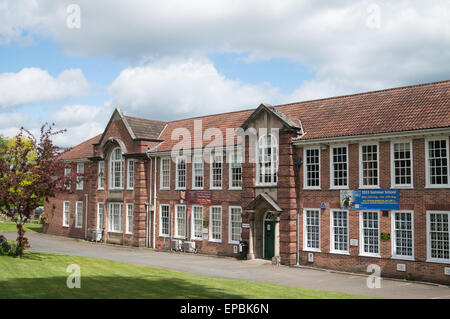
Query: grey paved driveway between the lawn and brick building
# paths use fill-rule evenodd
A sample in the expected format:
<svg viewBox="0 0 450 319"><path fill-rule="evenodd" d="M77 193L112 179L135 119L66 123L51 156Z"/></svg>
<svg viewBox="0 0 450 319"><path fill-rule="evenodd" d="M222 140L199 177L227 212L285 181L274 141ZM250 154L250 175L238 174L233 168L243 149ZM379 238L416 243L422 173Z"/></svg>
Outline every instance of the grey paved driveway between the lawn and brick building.
<svg viewBox="0 0 450 319"><path fill-rule="evenodd" d="M3 235L8 239L16 238L15 233L3 233ZM366 285L366 276L288 266L276 267L263 260L239 261L233 258L158 252L146 248L95 244L39 233L27 233L27 237L31 243L30 250L34 251L99 257L134 265L154 266L199 275L262 281L377 298L450 299L450 287L442 285L383 278L381 288L370 289Z"/></svg>

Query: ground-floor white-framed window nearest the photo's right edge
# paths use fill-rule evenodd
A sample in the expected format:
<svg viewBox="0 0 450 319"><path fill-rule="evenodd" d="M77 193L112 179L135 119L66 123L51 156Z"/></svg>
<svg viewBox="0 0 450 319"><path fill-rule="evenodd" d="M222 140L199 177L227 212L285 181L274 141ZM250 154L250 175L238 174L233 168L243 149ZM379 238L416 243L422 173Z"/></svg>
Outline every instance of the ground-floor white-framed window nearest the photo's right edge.
<svg viewBox="0 0 450 319"><path fill-rule="evenodd" d="M427 211L427 261L450 263L450 212Z"/></svg>

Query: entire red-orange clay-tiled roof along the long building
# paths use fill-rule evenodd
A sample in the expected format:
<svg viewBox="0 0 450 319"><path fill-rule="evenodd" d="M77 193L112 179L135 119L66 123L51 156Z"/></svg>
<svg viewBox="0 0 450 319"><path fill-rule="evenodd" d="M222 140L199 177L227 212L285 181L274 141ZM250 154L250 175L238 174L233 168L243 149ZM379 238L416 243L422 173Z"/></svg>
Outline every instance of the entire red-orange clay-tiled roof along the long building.
<svg viewBox="0 0 450 319"><path fill-rule="evenodd" d="M301 120L306 132L302 140L450 127L450 80L267 107L291 126L298 127ZM239 128L254 111L171 122L131 116L124 119L136 138L162 140L154 142L157 147L152 150L161 152L172 150L180 142L175 129L185 128L194 138L194 123L201 120L202 135L208 128L218 128L225 139L227 128ZM91 156L92 144L98 143L100 136L75 146L64 153L64 158ZM211 139L201 141L201 145L211 146Z"/></svg>

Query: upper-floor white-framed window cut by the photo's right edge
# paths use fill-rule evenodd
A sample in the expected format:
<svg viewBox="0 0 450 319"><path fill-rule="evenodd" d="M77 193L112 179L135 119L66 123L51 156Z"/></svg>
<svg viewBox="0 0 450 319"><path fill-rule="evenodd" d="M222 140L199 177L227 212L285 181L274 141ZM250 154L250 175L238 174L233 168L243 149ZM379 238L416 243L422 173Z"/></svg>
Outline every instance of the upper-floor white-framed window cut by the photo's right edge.
<svg viewBox="0 0 450 319"><path fill-rule="evenodd" d="M426 187L450 187L448 137L425 140Z"/></svg>

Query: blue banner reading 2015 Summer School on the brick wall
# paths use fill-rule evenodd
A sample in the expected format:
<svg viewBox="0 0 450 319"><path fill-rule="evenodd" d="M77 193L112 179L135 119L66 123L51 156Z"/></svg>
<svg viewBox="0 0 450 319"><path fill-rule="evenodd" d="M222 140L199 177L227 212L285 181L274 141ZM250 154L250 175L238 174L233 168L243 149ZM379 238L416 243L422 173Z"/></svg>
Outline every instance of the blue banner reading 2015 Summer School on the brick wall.
<svg viewBox="0 0 450 319"><path fill-rule="evenodd" d="M341 190L342 209L399 209L398 189Z"/></svg>

